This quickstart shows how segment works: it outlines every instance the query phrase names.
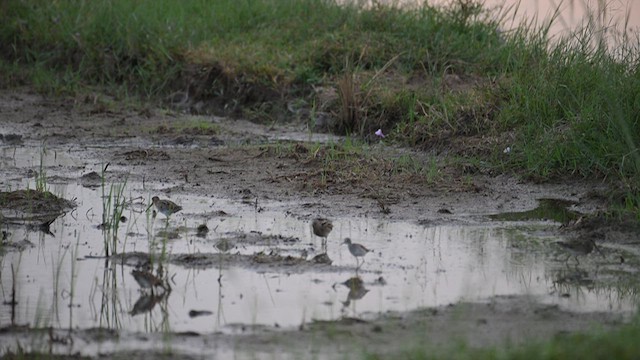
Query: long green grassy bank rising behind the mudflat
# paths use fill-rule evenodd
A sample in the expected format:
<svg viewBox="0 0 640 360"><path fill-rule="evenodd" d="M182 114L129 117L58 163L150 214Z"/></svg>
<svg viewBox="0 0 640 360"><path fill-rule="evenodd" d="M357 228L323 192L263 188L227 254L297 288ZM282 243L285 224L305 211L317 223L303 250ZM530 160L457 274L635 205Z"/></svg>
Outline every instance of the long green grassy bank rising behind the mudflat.
<svg viewBox="0 0 640 360"><path fill-rule="evenodd" d="M194 112L295 117L365 139L382 128L491 172L607 179L640 214L633 34L611 50L592 22L551 42L548 27L501 31L504 14L473 0L10 0L0 10L6 85L150 99L180 90Z"/></svg>

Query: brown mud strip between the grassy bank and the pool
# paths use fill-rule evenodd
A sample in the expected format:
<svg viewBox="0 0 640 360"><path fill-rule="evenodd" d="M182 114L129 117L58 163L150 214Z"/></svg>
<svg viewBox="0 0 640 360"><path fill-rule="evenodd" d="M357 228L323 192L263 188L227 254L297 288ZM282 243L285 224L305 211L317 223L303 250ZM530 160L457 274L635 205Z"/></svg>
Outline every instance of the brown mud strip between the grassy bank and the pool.
<svg viewBox="0 0 640 360"><path fill-rule="evenodd" d="M394 173L387 166L402 156L410 156L420 166L433 157L383 143L371 144L369 156L349 163L347 170L324 166L321 156L330 150L322 147L309 154L304 147L290 150L283 145L278 152L259 146L275 141L340 141L312 133L303 124L265 127L159 109L130 110L117 104L105 109L27 91L5 90L0 103L3 132L21 135L27 146L86 151L86 156L111 164L109 181L144 179L167 184L165 191L171 193L296 201L300 205L290 211L299 214L433 221L530 209L544 197L574 201L575 209L582 212L606 207L608 188L599 182L535 184L492 176L471 164L448 165L444 159L437 160L437 173L430 180L409 171ZM214 127L216 135L184 135L184 129L203 122Z"/></svg>

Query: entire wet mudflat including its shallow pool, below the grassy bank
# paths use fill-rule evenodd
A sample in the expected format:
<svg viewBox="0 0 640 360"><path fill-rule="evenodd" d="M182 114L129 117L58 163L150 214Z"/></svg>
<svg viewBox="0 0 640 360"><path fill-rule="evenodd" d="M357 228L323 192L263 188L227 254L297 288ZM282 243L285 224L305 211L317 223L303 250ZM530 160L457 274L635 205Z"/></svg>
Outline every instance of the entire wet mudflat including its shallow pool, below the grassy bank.
<svg viewBox="0 0 640 360"><path fill-rule="evenodd" d="M0 92L2 194L39 176L73 200L49 204L47 231L2 221L2 351L384 357L635 314L637 227L592 220L602 183L469 172L384 143L363 156L305 124L106 109ZM410 170L433 159L434 176ZM332 220L326 243L317 217ZM372 251L355 258L344 238ZM576 239L602 254L568 259Z"/></svg>

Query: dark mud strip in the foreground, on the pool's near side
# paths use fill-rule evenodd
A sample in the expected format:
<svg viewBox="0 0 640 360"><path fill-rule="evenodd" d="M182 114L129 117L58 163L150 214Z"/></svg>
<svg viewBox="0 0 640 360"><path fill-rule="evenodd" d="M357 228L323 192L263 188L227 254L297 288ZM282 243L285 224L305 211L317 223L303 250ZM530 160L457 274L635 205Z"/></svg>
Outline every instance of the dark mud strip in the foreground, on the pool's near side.
<svg viewBox="0 0 640 360"><path fill-rule="evenodd" d="M496 297L483 303L387 313L374 319L344 317L338 321L301 325L296 331L283 331L238 324L235 334L149 333L128 334L104 329L86 331L5 328L23 339L50 343L56 352L101 357L143 359L150 355L177 359L254 358L256 355L282 359L359 358L365 353L395 358L399 353L438 351L455 343L471 347L530 343L592 329L606 331L624 319L610 313L576 314L544 305L536 299ZM11 336L11 337L12 337ZM9 338L11 338L9 337ZM139 349L156 349L140 351Z"/></svg>

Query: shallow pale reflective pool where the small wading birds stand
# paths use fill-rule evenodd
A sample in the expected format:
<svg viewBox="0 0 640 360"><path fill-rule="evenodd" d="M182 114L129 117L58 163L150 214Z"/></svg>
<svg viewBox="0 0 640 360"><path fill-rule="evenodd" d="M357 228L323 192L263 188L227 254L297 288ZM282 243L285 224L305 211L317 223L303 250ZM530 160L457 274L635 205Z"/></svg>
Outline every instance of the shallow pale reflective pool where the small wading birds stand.
<svg viewBox="0 0 640 360"><path fill-rule="evenodd" d="M554 245L560 240L555 222L503 222L478 215L434 225L333 218L327 245L332 263L314 264L311 259L322 249L310 221L327 214L293 213L290 209L300 204L288 202L164 194L171 184L85 187L78 179L95 169L72 152L48 150L41 167L40 150L13 151L2 149L3 167L15 167L9 171L15 177L4 179L3 187L33 188L33 180L18 174L44 170L49 190L75 199L78 207L52 223L48 233L6 228L9 243L24 250L4 249L2 325L237 333L260 325L297 328L314 320L374 318L498 295L528 295L572 311L631 314L636 308L633 292L595 285L618 270L608 260L591 255L581 265L564 261L566 255ZM108 198L103 194L121 187L126 221L112 252L169 259L191 254L208 262L164 262L171 289L142 290L132 275L136 256L126 261L104 256L108 232L99 225ZM168 221L161 214L154 218L147 210L153 195L184 209ZM202 224L210 231L198 236ZM359 270L341 245L346 237L373 250ZM216 246L222 239L229 244L224 252ZM300 263L302 258L307 261ZM362 284L343 284L356 276Z"/></svg>

